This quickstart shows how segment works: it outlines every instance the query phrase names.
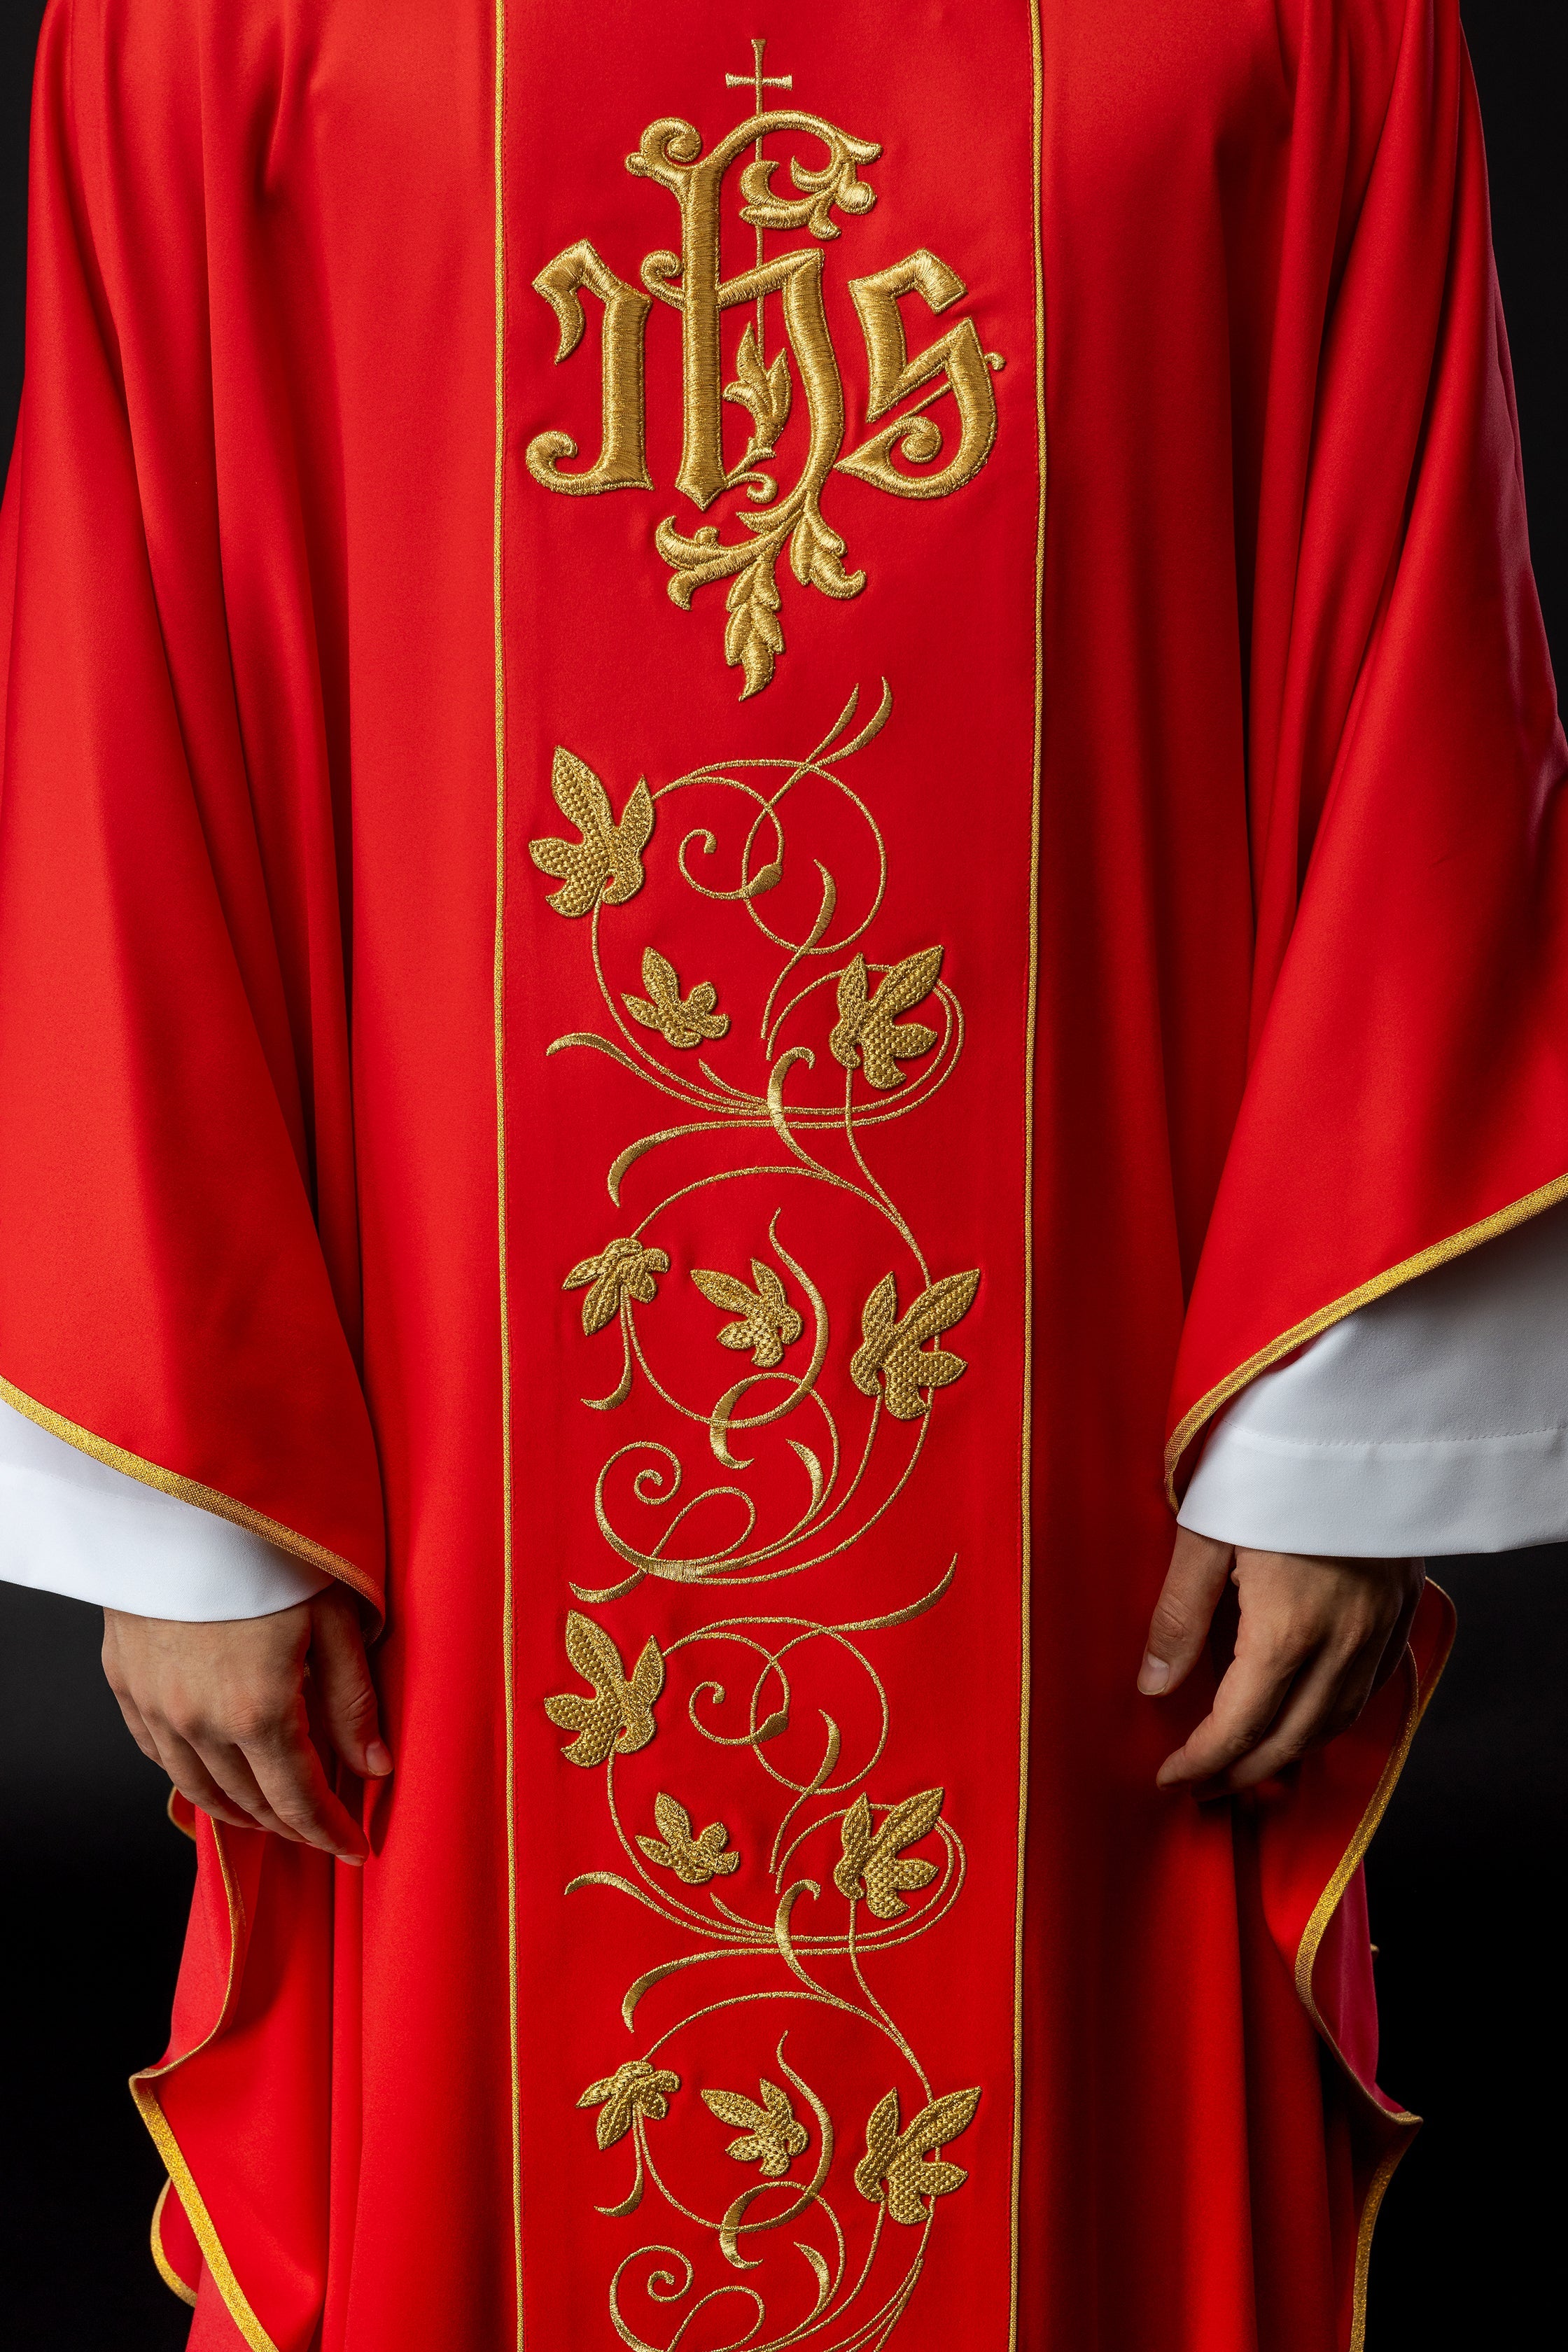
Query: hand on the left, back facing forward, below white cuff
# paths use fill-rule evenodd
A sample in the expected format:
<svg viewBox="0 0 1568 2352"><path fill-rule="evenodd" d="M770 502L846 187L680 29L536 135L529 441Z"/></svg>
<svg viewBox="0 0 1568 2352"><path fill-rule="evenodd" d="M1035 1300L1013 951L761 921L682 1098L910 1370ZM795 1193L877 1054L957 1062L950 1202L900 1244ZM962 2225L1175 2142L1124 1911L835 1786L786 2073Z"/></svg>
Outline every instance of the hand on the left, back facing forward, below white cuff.
<svg viewBox="0 0 1568 2352"><path fill-rule="evenodd" d="M346 1585L216 1625L106 1609L103 1672L143 1757L202 1813L364 1860L364 1830L322 1766L336 1750L364 1778L393 1769Z"/></svg>

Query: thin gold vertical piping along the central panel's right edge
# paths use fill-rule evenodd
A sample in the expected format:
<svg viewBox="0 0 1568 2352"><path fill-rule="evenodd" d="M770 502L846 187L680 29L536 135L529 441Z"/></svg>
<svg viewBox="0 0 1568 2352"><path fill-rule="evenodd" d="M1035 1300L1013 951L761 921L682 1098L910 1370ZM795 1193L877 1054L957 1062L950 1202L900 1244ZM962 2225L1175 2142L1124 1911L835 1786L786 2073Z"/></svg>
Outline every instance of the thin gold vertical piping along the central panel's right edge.
<svg viewBox="0 0 1568 2352"><path fill-rule="evenodd" d="M1030 988L1023 1044L1023 1470L1020 1470L1020 1677L1018 1677L1018 1893L1013 1907L1013 2223L1009 2352L1018 2347L1018 2220L1023 2204L1023 1898L1025 1832L1030 1825L1030 1576L1034 1548L1034 1025L1039 1018L1039 762L1044 750L1046 680L1046 256L1041 228L1044 174L1044 54L1039 0L1030 0L1032 226L1034 226L1034 447L1039 506L1034 522L1034 769L1030 804Z"/></svg>

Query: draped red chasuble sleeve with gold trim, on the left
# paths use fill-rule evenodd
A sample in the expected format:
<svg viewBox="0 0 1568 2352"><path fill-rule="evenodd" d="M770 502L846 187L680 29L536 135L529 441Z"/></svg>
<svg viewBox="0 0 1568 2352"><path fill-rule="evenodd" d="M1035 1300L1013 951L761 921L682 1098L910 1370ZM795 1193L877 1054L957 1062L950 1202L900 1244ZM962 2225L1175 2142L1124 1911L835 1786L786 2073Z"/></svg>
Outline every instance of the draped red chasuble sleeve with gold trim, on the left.
<svg viewBox="0 0 1568 2352"><path fill-rule="evenodd" d="M378 1606L350 858L294 435L261 360L214 369L209 256L244 226L207 216L200 28L181 59L158 14L59 0L38 56L0 532L0 1397ZM261 202L261 78L233 120L256 155L226 179Z"/></svg>

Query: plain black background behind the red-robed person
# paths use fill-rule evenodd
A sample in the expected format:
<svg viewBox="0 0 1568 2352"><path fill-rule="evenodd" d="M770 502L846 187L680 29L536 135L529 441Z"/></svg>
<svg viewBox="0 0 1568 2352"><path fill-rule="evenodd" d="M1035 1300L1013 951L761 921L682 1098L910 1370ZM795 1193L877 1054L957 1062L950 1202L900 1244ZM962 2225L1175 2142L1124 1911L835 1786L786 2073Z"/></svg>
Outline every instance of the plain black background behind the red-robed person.
<svg viewBox="0 0 1568 2352"><path fill-rule="evenodd" d="M21 388L38 19L38 0L0 0L0 447ZM1563 675L1568 7L1467 0L1465 26L1535 569ZM1427 2114L1378 2225L1368 2352L1514 2345L1535 2338L1537 2314L1561 2314L1552 1922L1568 1548L1443 1562L1439 1578L1460 1604L1460 1642L1368 1863L1380 2077ZM174 2352L188 2319L148 2258L162 2171L125 2077L167 2034L190 1846L165 1820L165 1783L132 1748L96 1646L96 1611L0 1585L0 2343L12 2352Z"/></svg>

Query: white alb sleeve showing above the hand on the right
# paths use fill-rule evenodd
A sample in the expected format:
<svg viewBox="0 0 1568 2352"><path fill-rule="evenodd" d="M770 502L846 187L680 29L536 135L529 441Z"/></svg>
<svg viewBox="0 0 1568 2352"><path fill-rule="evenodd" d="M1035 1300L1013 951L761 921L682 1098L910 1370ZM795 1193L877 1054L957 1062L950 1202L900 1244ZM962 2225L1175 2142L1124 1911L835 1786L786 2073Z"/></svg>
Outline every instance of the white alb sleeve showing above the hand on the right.
<svg viewBox="0 0 1568 2352"><path fill-rule="evenodd" d="M1568 1536L1568 1202L1347 1315L1241 1390L1180 1524L1340 1559Z"/></svg>

